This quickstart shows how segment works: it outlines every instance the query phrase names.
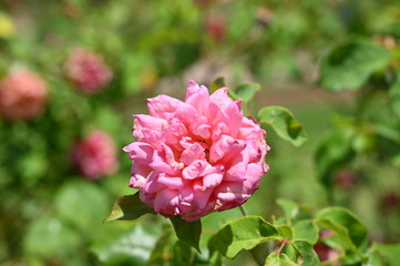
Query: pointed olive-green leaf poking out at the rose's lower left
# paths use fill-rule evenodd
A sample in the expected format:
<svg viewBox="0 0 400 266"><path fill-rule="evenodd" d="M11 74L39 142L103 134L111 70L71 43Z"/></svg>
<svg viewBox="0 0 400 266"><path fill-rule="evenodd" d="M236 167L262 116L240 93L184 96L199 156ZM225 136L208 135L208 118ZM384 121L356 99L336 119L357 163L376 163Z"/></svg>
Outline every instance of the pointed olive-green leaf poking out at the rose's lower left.
<svg viewBox="0 0 400 266"><path fill-rule="evenodd" d="M155 214L151 207L141 201L139 195L140 192L136 192L134 195L119 197L104 223L116 219L136 219L147 213Z"/></svg>

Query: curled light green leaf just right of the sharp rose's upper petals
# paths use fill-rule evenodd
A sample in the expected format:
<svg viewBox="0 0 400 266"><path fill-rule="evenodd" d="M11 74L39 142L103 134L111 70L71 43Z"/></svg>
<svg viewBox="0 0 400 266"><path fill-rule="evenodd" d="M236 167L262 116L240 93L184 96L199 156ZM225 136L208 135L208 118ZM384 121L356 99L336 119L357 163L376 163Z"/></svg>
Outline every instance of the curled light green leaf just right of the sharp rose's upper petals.
<svg viewBox="0 0 400 266"><path fill-rule="evenodd" d="M267 106L258 112L259 122L268 124L281 139L299 146L307 141L306 132L293 113L281 106Z"/></svg>

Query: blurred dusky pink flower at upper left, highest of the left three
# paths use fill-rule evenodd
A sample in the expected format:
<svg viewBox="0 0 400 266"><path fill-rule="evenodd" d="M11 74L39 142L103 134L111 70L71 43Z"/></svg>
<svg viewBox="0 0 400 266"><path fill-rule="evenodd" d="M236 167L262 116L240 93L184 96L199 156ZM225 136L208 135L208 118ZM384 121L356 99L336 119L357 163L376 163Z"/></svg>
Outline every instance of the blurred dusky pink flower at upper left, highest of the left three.
<svg viewBox="0 0 400 266"><path fill-rule="evenodd" d="M88 94L101 91L113 76L112 70L100 54L81 48L70 52L65 63L65 72L78 89Z"/></svg>

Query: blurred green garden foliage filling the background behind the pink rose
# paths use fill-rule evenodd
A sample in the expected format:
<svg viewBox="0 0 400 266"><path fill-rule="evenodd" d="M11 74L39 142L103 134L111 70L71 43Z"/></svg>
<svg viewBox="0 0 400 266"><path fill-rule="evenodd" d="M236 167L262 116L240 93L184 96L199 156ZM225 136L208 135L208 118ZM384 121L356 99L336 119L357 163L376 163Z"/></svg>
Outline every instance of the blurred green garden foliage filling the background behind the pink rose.
<svg viewBox="0 0 400 266"><path fill-rule="evenodd" d="M134 193L122 152L133 141L132 114L147 112L146 98L183 99L189 79L208 85L218 76L232 89L260 83L255 105L289 108L308 132L308 142L294 147L266 127L270 171L245 205L248 213L281 215L278 197L310 209L342 205L373 239L399 242L399 167L373 149L347 161L340 137L331 153L343 162L330 182L316 166L327 135L357 121L362 105L361 92L318 88L319 64L335 45L358 37L398 48L399 1L1 0L0 79L27 69L45 82L48 98L34 119L0 119L0 265L147 265L168 221L102 224L117 196ZM66 71L76 48L98 57L82 79L104 75L99 64L112 72L95 92L82 91ZM384 120L384 96L368 106L362 115ZM100 178L85 177L71 158L92 130L115 142L120 165ZM236 216L237 209L212 214L204 227L216 231ZM240 256L237 265L246 260Z"/></svg>

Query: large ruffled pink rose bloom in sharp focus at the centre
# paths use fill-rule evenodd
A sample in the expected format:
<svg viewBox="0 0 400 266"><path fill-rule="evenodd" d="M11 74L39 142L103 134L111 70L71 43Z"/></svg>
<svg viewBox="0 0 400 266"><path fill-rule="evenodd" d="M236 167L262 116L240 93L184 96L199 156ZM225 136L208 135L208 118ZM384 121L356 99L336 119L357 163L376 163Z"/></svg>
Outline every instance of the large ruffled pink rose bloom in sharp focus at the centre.
<svg viewBox="0 0 400 266"><path fill-rule="evenodd" d="M268 171L269 147L240 105L226 88L209 95L194 81L185 102L148 99L150 115L134 115L136 142L124 147L133 160L130 186L155 212L189 222L245 203Z"/></svg>

